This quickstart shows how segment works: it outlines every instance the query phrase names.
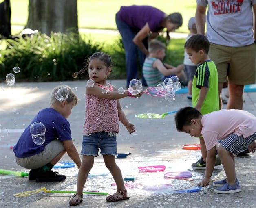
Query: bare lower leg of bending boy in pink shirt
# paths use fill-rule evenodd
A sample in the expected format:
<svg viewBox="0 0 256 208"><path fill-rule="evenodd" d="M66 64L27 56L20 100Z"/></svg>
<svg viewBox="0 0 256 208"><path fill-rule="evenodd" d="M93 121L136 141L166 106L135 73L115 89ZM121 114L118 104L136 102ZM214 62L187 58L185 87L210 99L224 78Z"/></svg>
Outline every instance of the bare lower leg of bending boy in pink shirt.
<svg viewBox="0 0 256 208"><path fill-rule="evenodd" d="M224 171L227 176L227 183L230 185L236 184L236 170L234 155L228 152L221 145L218 147L218 155L221 159Z"/></svg>

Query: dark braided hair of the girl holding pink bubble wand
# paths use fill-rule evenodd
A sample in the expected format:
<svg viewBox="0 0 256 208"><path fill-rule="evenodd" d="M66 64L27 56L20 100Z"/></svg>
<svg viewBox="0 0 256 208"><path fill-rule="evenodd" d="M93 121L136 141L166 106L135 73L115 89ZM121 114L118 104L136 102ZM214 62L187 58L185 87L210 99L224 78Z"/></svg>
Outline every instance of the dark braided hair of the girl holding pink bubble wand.
<svg viewBox="0 0 256 208"><path fill-rule="evenodd" d="M84 68L82 68L79 72L75 72L72 74L73 78L77 78L80 74L83 74L87 70L90 61L94 58L98 58L100 61L102 61L107 68L111 67L111 57L108 54L105 54L103 52L95 52L93 55L90 56L90 58L88 58L87 64Z"/></svg>

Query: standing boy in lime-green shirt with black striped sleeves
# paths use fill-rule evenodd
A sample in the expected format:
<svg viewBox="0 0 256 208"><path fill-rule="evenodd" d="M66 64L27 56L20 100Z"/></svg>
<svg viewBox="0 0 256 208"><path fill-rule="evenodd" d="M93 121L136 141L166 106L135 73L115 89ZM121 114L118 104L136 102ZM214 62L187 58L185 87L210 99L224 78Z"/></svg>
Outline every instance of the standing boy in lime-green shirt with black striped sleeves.
<svg viewBox="0 0 256 208"><path fill-rule="evenodd" d="M203 115L219 110L218 72L208 56L210 43L204 35L196 34L185 43L185 51L190 60L199 65L192 81L192 106ZM202 157L192 164L194 169L206 169L206 147L203 137L199 137ZM216 157L218 159L218 157ZM221 162L216 160L215 165Z"/></svg>

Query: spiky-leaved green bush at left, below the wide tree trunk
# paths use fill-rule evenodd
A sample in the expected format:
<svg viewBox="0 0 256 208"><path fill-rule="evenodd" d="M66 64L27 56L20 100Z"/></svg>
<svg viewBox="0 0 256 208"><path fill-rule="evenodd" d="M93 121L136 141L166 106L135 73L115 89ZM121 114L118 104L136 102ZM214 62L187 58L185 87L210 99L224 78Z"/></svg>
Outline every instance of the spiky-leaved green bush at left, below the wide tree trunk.
<svg viewBox="0 0 256 208"><path fill-rule="evenodd" d="M73 80L72 74L84 67L86 59L102 50L99 44L83 39L75 33L8 39L6 50L1 50L0 77L4 79L18 66L17 82Z"/></svg>

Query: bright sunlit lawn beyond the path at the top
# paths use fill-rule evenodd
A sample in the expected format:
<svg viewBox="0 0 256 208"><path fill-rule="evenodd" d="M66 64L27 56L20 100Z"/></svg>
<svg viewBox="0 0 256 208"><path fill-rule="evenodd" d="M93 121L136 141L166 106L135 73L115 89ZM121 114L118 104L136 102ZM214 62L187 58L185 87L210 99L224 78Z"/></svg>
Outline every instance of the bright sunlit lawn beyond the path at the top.
<svg viewBox="0 0 256 208"><path fill-rule="evenodd" d="M29 0L10 0L11 24L25 25L28 19ZM149 5L161 9L167 14L180 12L183 25L176 32L188 32L187 24L195 15L195 0L77 0L79 28L100 28L116 30L115 14L120 6ZM13 32L13 34L15 34Z"/></svg>

